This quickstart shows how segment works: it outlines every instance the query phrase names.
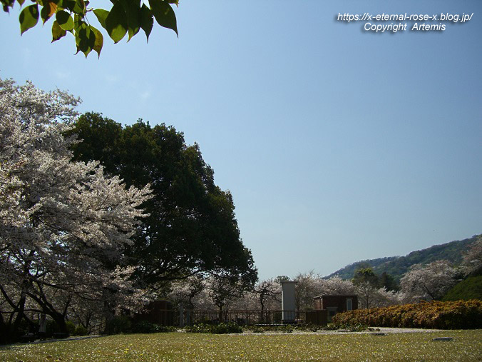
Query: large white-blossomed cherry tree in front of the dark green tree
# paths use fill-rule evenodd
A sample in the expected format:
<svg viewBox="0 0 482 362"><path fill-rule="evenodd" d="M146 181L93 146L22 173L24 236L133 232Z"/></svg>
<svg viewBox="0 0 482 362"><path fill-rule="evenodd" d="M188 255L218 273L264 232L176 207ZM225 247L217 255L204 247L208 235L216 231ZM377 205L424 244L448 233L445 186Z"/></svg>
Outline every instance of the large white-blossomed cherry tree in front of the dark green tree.
<svg viewBox="0 0 482 362"><path fill-rule="evenodd" d="M8 331L26 308L61 330L74 298L138 300L123 248L145 216L148 186L125 189L97 162L73 162L63 136L79 99L0 79L0 292ZM8 308L7 308L8 307Z"/></svg>

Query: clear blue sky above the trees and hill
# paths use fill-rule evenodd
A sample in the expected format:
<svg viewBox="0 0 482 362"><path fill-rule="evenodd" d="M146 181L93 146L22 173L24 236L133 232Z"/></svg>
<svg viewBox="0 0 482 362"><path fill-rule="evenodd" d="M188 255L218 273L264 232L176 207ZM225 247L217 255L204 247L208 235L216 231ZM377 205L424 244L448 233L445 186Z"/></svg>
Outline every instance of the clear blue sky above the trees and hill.
<svg viewBox="0 0 482 362"><path fill-rule="evenodd" d="M474 14L429 33L335 21L365 11ZM179 38L105 39L98 60L50 44L51 25L20 36L16 8L0 15L0 76L198 142L260 278L482 233L481 1L181 0L176 14Z"/></svg>

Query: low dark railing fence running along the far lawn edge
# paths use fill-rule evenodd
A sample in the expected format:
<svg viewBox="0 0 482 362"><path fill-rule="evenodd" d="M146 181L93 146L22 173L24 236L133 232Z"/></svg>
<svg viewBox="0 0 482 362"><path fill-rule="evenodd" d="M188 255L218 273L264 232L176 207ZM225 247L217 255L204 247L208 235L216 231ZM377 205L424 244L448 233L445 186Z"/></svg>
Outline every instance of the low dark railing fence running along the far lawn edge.
<svg viewBox="0 0 482 362"><path fill-rule="evenodd" d="M289 319L283 321L282 317ZM189 326L195 323L235 322L240 325L255 324L316 324L327 325L327 311L194 311L157 310L143 318L163 326Z"/></svg>

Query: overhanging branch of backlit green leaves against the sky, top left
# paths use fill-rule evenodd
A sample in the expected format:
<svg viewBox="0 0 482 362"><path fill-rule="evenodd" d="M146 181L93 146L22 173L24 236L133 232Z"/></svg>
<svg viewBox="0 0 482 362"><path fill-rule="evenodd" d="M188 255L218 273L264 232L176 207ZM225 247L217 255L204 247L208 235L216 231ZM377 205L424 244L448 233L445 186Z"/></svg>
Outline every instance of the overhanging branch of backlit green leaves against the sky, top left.
<svg viewBox="0 0 482 362"><path fill-rule="evenodd" d="M0 0L5 12L9 12L15 3L24 5L25 0ZM178 5L178 0L149 0L148 5L140 0L111 0L110 10L89 7L88 0L32 0L34 4L25 6L19 16L20 31L25 31L39 24L52 21L52 42L66 36L73 35L77 53L80 51L88 56L96 51L101 56L103 35L91 25L93 16L96 17L108 36L118 43L125 35L128 41L138 34L140 29L149 40L153 29L154 19L160 25L172 29L178 34L178 25L171 4ZM92 15L93 14L93 15Z"/></svg>

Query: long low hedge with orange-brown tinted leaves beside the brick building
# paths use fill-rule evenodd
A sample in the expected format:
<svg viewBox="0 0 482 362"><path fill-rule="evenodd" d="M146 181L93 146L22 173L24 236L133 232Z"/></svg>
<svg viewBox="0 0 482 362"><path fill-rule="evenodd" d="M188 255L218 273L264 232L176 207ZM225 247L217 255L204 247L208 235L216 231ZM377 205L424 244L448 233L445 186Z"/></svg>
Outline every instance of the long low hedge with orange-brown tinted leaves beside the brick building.
<svg viewBox="0 0 482 362"><path fill-rule="evenodd" d="M482 301L431 301L338 313L336 325L372 327L473 329L482 328Z"/></svg>

